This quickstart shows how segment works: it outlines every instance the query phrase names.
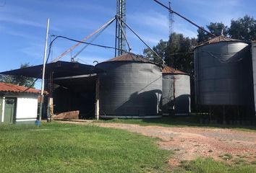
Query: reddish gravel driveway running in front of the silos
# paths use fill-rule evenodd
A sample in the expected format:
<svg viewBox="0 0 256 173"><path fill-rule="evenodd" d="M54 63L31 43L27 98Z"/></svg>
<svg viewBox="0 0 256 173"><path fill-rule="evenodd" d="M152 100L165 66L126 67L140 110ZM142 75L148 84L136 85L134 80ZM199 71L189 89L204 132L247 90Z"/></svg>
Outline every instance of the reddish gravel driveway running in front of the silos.
<svg viewBox="0 0 256 173"><path fill-rule="evenodd" d="M63 123L82 123L68 122ZM82 124L92 124L85 122ZM181 161L199 156L216 160L256 161L256 132L221 128L166 128L121 123L93 123L107 128L119 128L145 136L161 138L158 146L174 151L169 163L179 165Z"/></svg>

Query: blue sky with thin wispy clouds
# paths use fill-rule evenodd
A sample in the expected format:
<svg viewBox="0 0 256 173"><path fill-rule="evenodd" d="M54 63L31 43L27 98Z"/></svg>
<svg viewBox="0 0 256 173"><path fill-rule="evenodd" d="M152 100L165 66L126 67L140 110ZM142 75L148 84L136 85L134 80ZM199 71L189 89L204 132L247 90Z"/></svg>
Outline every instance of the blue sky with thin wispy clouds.
<svg viewBox="0 0 256 173"><path fill-rule="evenodd" d="M161 0L168 4L168 0ZM4 0L0 0L0 5ZM231 19L249 14L255 17L255 0L172 0L172 8L198 25L210 22L230 24ZM0 71L19 68L20 63L43 63L46 19L50 33L81 40L101 27L116 14L116 0L6 0L0 6ZM256 18L256 17L255 17ZM174 32L196 37L197 28L174 16ZM127 0L127 23L150 46L168 39L168 12L152 0ZM94 43L114 46L114 25L105 30ZM127 32L132 52L142 53L145 45ZM56 58L74 43L57 40L51 58ZM62 61L69 61L82 45ZM114 50L88 46L77 58L80 63L92 64L114 57ZM50 58L50 59L51 59Z"/></svg>

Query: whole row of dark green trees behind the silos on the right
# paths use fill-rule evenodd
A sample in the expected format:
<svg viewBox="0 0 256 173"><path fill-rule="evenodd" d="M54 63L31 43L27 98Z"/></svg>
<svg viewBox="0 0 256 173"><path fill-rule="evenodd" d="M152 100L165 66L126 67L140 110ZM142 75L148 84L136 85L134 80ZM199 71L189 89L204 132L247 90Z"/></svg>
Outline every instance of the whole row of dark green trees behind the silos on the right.
<svg viewBox="0 0 256 173"><path fill-rule="evenodd" d="M210 33L216 36L224 35L247 42L256 40L256 20L248 15L239 19L231 19L230 27L222 22L210 22L206 27ZM166 61L167 66L177 68L193 76L193 50L197 45L212 38L213 36L200 29L197 30L196 38L184 37L181 33L174 32L169 36L168 41L160 40L157 45L153 46L153 50ZM146 48L143 54L155 62L159 61L149 48Z"/></svg>

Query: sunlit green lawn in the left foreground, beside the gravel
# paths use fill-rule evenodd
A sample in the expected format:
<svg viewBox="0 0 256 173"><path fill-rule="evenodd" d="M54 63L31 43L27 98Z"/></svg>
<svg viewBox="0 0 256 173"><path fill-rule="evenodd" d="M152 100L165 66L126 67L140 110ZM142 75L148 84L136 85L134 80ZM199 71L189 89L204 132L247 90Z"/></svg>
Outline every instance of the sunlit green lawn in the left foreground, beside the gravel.
<svg viewBox="0 0 256 173"><path fill-rule="evenodd" d="M155 138L93 125L0 125L0 172L164 172Z"/></svg>

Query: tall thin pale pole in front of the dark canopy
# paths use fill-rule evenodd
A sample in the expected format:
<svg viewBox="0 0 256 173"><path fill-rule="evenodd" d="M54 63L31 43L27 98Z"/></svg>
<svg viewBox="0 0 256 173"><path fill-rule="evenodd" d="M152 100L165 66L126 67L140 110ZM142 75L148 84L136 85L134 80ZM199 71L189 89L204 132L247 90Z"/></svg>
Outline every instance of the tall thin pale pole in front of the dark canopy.
<svg viewBox="0 0 256 173"><path fill-rule="evenodd" d="M38 121L40 122L43 115L43 92L44 92L44 76L46 71L46 54L47 54L47 41L48 41L48 30L49 30L49 22L50 19L47 20L47 27L46 27L46 43L44 45L44 55L43 55L43 74L42 74L42 82L41 82L41 94L40 94L40 112Z"/></svg>

